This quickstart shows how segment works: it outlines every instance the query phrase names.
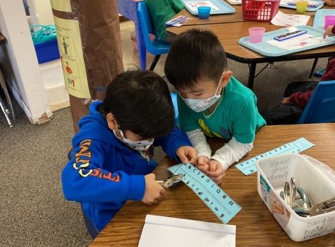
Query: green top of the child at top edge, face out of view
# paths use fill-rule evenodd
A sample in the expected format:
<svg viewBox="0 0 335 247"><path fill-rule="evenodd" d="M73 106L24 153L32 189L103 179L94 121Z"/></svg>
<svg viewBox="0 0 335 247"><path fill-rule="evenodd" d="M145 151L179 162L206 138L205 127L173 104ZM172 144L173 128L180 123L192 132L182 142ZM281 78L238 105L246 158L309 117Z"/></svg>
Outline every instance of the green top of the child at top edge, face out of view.
<svg viewBox="0 0 335 247"><path fill-rule="evenodd" d="M144 0L149 9L155 32L163 41L166 39L166 21L184 8L181 0Z"/></svg>

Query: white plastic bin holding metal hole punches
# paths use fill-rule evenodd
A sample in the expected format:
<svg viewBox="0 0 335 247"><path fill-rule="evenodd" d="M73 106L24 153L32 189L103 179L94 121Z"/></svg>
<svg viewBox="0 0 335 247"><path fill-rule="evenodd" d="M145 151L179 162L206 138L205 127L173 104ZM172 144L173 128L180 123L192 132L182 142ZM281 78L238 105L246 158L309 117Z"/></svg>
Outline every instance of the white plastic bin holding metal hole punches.
<svg viewBox="0 0 335 247"><path fill-rule="evenodd" d="M294 241L320 237L335 230L335 211L301 217L279 195L285 182L290 182L293 177L296 186L303 188L312 199L312 206L334 197L334 171L325 167L325 164L321 167L317 160L299 153L277 155L257 162L257 191L274 218Z"/></svg>

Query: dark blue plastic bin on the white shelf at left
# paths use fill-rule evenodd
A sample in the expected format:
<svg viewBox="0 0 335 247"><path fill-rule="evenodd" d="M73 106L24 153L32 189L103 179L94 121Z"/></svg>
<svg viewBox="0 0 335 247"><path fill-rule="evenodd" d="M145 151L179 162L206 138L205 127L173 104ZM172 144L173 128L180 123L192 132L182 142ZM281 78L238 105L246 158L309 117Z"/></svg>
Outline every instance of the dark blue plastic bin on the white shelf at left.
<svg viewBox="0 0 335 247"><path fill-rule="evenodd" d="M45 63L59 58L56 39L54 41L47 41L39 45L34 45L34 47L39 63Z"/></svg>

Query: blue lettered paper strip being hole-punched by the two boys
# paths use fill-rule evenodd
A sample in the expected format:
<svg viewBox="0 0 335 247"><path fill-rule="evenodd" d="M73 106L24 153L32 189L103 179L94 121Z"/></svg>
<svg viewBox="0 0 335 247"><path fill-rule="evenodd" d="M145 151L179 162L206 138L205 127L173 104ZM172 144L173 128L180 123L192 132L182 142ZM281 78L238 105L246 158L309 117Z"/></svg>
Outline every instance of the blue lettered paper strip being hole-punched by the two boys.
<svg viewBox="0 0 335 247"><path fill-rule="evenodd" d="M170 167L169 171L173 174L183 173L182 182L191 188L224 224L228 223L241 210L239 204L192 164L176 164Z"/></svg>

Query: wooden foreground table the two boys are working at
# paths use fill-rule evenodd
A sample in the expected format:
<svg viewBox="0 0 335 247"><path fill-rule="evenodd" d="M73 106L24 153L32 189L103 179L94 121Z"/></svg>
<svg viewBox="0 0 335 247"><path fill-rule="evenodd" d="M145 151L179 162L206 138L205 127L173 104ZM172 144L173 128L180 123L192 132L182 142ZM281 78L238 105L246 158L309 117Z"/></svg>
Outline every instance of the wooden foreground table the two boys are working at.
<svg viewBox="0 0 335 247"><path fill-rule="evenodd" d="M315 144L303 153L335 169L335 123L263 127L256 134L254 149L244 160L301 137ZM219 139L210 139L209 143L213 150L222 146ZM166 168L173 164L173 160L164 158L154 171L156 177L166 178L169 175ZM228 223L237 226L236 246L335 246L335 233L303 242L292 241L259 197L256 173L245 176L236 167L230 167L220 186L242 206L242 210ZM191 189L179 184L166 189L164 198L154 206L127 202L90 246L138 246L147 214L221 223Z"/></svg>

